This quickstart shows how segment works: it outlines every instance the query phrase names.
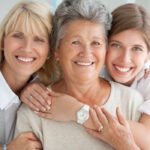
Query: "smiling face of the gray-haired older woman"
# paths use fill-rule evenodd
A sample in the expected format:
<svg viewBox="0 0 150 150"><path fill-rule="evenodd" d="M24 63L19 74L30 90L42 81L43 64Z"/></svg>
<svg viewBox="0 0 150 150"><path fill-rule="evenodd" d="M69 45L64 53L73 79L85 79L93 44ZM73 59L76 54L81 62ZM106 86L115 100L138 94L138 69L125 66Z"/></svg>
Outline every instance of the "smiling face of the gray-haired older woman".
<svg viewBox="0 0 150 150"><path fill-rule="evenodd" d="M98 78L105 61L106 42L102 25L85 20L66 26L55 53L65 78L87 81Z"/></svg>

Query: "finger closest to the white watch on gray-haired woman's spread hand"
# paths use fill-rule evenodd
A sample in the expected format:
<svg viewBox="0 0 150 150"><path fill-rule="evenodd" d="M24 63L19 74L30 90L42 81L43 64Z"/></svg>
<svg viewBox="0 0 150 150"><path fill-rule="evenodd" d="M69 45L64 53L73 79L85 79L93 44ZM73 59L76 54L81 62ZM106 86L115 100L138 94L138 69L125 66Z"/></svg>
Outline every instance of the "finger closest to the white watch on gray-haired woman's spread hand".
<svg viewBox="0 0 150 150"><path fill-rule="evenodd" d="M93 124L96 127L96 129L98 129L101 126L100 121L98 120L97 114L95 112L95 110L90 108L90 116L92 118Z"/></svg>

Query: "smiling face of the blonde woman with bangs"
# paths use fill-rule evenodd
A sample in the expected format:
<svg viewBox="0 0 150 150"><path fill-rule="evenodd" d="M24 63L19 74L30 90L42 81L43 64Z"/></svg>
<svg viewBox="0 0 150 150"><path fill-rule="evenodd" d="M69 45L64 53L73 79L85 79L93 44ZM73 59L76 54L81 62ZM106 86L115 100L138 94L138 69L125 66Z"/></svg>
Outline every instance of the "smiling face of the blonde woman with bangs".
<svg viewBox="0 0 150 150"><path fill-rule="evenodd" d="M30 76L44 64L49 51L48 34L35 35L24 33L20 28L10 32L4 38L4 56L3 68L22 75Z"/></svg>

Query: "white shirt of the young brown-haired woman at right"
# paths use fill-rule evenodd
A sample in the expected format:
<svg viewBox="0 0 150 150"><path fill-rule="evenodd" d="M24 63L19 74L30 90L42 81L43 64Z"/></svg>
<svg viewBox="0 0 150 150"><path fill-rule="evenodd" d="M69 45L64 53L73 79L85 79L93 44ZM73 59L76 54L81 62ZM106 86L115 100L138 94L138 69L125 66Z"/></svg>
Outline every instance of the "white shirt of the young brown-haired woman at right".
<svg viewBox="0 0 150 150"><path fill-rule="evenodd" d="M148 68L148 63L146 64L147 68ZM145 102L140 106L139 111L142 113L146 113L147 115L150 115L150 75L145 79L144 69L145 67L137 75L131 87L138 90L144 97ZM103 78L107 80L112 80L106 67L103 68L103 72L100 74L100 76L102 76Z"/></svg>

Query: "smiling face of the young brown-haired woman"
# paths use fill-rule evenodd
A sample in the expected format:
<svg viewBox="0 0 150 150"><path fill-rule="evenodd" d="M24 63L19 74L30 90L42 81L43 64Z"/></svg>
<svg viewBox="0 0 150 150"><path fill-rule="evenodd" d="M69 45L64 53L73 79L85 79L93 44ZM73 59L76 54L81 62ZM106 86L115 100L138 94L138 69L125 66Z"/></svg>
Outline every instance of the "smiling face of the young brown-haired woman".
<svg viewBox="0 0 150 150"><path fill-rule="evenodd" d="M148 48L138 30L125 30L109 39L106 66L111 77L131 85L148 58Z"/></svg>

